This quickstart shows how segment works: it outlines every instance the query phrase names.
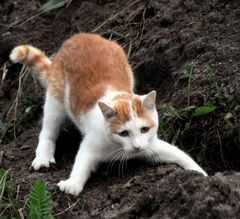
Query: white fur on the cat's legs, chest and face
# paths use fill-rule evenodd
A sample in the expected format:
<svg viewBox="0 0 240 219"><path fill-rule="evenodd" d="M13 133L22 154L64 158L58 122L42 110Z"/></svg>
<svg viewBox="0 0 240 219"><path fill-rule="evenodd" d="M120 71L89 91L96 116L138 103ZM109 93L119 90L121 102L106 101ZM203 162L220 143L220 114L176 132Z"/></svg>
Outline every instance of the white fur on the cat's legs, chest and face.
<svg viewBox="0 0 240 219"><path fill-rule="evenodd" d="M117 92L108 90L99 101L111 103L117 94ZM133 157L144 157L157 162L177 163L185 169L195 170L205 176L207 175L183 151L157 138L158 114L156 109L148 112L156 122L155 128L142 134L140 129L147 126L146 121L138 118L137 114L132 111L131 120L126 122L119 130L129 130L130 135L121 137L109 131L109 124L104 119L98 104L88 113L75 117L70 110L69 95L69 86L66 86L65 101L64 106L62 106L47 93L43 128L36 150L36 158L32 163L33 168L37 170L43 166L48 167L51 162L55 162L55 141L66 112L85 136L80 144L69 179L58 183L61 191L78 195L83 190L91 172L95 171L101 162ZM142 97L142 99L144 98L145 96Z"/></svg>

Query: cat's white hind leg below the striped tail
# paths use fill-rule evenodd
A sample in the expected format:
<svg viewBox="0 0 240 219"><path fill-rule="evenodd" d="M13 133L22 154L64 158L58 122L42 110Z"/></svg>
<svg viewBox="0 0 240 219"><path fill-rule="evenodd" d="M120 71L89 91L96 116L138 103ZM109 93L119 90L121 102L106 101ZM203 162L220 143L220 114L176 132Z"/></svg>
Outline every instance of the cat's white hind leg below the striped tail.
<svg viewBox="0 0 240 219"><path fill-rule="evenodd" d="M49 167L50 163L55 163L54 153L56 139L64 118L65 112L63 103L47 92L42 130L39 135L36 157L32 162L32 167L35 170L41 167Z"/></svg>

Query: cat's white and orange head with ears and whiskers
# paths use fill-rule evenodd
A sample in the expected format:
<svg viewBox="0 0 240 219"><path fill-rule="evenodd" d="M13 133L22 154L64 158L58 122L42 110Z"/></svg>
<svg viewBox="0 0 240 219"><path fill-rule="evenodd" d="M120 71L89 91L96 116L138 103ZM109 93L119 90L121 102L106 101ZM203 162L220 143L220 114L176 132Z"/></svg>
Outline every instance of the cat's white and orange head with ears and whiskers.
<svg viewBox="0 0 240 219"><path fill-rule="evenodd" d="M158 128L156 92L116 96L111 104L99 102L108 137L129 154L147 149Z"/></svg>

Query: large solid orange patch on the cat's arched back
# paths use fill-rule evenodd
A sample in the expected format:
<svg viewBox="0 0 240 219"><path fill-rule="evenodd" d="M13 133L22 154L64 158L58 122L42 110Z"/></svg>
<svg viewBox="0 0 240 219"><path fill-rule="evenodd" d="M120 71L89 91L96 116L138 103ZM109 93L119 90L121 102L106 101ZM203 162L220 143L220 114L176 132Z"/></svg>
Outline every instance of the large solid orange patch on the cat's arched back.
<svg viewBox="0 0 240 219"><path fill-rule="evenodd" d="M96 34L80 33L65 41L53 67L64 75L76 114L89 110L109 87L128 93L133 89L132 71L121 46Z"/></svg>

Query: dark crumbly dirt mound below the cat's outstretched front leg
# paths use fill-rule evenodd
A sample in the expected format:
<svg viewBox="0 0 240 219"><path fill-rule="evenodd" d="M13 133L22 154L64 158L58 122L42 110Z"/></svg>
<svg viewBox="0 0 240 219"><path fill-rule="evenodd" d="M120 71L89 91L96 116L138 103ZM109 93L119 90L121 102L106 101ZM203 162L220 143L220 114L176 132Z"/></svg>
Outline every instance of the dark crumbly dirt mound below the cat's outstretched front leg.
<svg viewBox="0 0 240 219"><path fill-rule="evenodd" d="M116 218L237 218L239 173L203 178L180 170L163 178Z"/></svg>

